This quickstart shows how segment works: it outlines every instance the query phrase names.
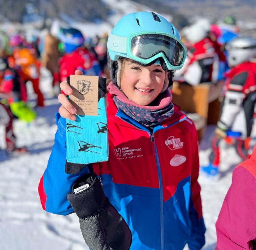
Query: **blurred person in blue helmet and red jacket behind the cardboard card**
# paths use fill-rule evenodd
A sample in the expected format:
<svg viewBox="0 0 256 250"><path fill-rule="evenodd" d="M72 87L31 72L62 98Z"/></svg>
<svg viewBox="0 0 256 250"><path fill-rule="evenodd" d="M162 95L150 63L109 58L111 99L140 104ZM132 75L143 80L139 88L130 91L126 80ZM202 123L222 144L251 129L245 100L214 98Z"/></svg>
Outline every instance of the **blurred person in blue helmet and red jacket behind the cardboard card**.
<svg viewBox="0 0 256 250"><path fill-rule="evenodd" d="M65 54L59 59L60 81L81 70L85 75L97 76L101 74L96 56L86 49L84 36L75 28L62 29L59 35Z"/></svg>

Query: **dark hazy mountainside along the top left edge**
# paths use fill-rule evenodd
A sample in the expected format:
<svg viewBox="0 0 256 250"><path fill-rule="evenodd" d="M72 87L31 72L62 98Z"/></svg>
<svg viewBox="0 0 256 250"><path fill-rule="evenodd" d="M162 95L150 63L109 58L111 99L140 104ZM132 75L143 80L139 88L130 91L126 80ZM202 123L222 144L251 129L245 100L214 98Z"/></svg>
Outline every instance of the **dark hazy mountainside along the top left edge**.
<svg viewBox="0 0 256 250"><path fill-rule="evenodd" d="M0 0L0 14L22 22L24 15L59 17L66 14L78 21L106 20L110 10L101 0Z"/></svg>

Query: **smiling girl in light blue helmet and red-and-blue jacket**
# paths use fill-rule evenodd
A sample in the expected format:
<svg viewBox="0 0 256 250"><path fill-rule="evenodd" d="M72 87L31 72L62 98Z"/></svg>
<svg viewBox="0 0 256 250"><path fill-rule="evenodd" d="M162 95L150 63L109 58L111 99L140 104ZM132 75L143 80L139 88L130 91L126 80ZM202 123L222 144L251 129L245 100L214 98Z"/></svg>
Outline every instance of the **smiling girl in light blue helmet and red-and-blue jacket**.
<svg viewBox="0 0 256 250"><path fill-rule="evenodd" d="M130 249L182 250L188 243L199 250L206 229L197 182L197 132L171 103L167 89L186 48L176 28L153 12L121 18L107 48L109 159L92 164L94 172L132 232ZM72 94L67 82L60 86ZM39 194L44 210L66 215L74 212L66 194L88 170L65 173L66 119L75 120L76 110L63 94L59 101L58 130Z"/></svg>

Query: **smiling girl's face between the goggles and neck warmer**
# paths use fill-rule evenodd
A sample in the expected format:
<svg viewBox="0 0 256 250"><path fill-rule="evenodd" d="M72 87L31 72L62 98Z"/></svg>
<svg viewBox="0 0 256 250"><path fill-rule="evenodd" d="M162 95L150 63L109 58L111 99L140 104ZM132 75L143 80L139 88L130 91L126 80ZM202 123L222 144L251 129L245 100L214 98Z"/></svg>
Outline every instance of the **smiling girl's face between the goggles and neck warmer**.
<svg viewBox="0 0 256 250"><path fill-rule="evenodd" d="M141 66L124 59L121 70L121 89L129 100L146 106L160 94L167 73L160 65Z"/></svg>

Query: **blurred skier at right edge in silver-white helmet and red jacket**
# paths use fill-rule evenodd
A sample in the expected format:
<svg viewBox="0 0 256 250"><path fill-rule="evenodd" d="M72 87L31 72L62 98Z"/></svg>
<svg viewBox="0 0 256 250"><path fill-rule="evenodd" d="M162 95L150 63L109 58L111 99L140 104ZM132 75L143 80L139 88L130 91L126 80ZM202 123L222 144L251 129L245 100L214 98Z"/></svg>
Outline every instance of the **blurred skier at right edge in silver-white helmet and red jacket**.
<svg viewBox="0 0 256 250"><path fill-rule="evenodd" d="M256 39L237 37L227 45L228 63L231 69L225 74L225 96L222 112L212 140L209 165L201 169L209 175L218 174L219 143L229 139L242 160L248 159L249 139L256 102L255 62Z"/></svg>

